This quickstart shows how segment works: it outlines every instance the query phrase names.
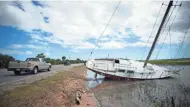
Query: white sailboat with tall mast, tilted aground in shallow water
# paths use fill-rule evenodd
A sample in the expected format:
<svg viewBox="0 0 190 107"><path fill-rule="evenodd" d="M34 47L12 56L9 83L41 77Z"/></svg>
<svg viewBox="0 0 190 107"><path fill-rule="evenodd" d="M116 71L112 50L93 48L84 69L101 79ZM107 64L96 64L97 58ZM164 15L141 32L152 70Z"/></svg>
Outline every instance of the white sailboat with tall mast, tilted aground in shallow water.
<svg viewBox="0 0 190 107"><path fill-rule="evenodd" d="M101 59L89 59L86 63L86 67L96 74L104 75L107 78L117 79L161 79L168 78L171 76L171 71L167 68L160 67L154 64L149 64L148 61L154 50L166 17L170 11L173 1L170 1L154 42L151 46L146 61L135 61L126 59L112 59L112 58L101 58Z"/></svg>

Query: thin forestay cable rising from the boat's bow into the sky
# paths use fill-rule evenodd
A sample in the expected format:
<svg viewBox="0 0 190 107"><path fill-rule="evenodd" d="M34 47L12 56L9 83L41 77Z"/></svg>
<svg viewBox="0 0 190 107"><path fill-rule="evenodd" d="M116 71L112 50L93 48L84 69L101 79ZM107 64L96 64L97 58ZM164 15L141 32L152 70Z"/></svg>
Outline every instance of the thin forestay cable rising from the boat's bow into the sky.
<svg viewBox="0 0 190 107"><path fill-rule="evenodd" d="M108 23L106 24L106 26L105 26L105 28L104 28L104 30L103 30L103 32L102 32L102 34L100 35L99 39L97 40L96 45L95 45L95 48L96 48L97 44L99 43L99 41L100 41L101 37L103 36L103 34L104 34L104 32L105 32L106 28L108 27L108 25L109 25L109 23L110 23L111 19L113 18L113 16L114 16L114 14L115 14L115 12L116 12L117 8L119 7L120 3L121 3L121 1L119 1L119 3L118 3L118 5L116 6L116 8L115 8L115 10L114 10L114 12L113 12L113 14L112 14L112 16L110 17L110 19L109 19ZM92 55L92 53L94 52L95 48L91 51L90 55Z"/></svg>

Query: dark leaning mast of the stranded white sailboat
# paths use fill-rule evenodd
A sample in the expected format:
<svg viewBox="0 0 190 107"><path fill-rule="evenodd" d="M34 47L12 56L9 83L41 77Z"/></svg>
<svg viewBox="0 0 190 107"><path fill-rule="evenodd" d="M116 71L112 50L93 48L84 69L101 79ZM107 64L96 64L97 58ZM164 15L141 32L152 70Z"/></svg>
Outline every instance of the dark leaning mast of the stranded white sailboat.
<svg viewBox="0 0 190 107"><path fill-rule="evenodd" d="M173 1L171 0L171 1L169 2L169 4L168 4L168 7L167 7L167 9L166 9L166 12L165 12L165 14L164 14L164 17L163 17L163 19L162 19L162 22L161 22L161 24L160 24L160 27L159 27L159 29L158 29L158 32L157 32L157 34L156 34L156 37L155 37L155 39L154 39L154 42L153 42L152 47L151 47L151 49L150 49L150 51L149 51L149 53L148 53L148 56L147 56L147 58L146 58L146 61L145 61L143 67L146 67L147 62L148 62L148 60L150 59L150 56L151 56L151 54L152 54L152 52L153 52L153 50L154 50L154 48L155 48L156 42L157 42L157 40L158 40L158 37L159 37L159 35L160 35L160 32L161 32L161 30L162 30L162 27L163 27L163 25L164 25L164 22L165 22L165 20L166 20L166 17L168 16L168 13L169 13L170 8L171 8L172 5L173 5Z"/></svg>

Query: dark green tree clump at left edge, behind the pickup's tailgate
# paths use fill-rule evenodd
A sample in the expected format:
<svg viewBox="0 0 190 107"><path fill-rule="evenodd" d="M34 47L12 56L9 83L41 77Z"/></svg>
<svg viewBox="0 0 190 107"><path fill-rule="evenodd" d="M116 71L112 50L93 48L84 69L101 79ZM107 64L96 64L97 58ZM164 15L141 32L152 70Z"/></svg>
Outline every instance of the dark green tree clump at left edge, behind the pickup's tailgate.
<svg viewBox="0 0 190 107"><path fill-rule="evenodd" d="M15 58L9 55L0 54L0 68L7 68L9 61L14 61Z"/></svg>

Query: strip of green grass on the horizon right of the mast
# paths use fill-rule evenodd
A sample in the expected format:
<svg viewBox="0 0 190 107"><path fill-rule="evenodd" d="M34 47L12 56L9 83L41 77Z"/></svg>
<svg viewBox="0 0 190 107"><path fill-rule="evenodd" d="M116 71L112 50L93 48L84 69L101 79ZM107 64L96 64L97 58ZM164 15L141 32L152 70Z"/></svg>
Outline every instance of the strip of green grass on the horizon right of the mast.
<svg viewBox="0 0 190 107"><path fill-rule="evenodd" d="M190 58L149 60L148 63L161 65L190 65Z"/></svg>

